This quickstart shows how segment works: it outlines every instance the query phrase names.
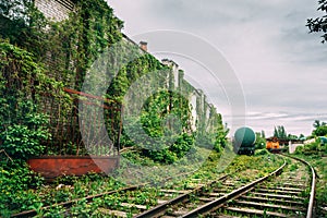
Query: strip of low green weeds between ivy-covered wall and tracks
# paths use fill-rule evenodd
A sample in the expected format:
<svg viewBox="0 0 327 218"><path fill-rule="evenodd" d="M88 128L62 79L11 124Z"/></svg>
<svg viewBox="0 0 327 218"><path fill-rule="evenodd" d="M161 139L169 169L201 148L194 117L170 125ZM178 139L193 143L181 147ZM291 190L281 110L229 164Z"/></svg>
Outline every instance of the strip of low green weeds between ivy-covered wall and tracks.
<svg viewBox="0 0 327 218"><path fill-rule="evenodd" d="M186 160L181 160L180 164L173 164L168 166L169 168L175 168L173 170L167 170L167 168L160 168L160 166L150 160L142 160L138 157L132 155L130 158L135 162L148 164L149 170L144 172L136 172L140 178L135 180L135 182L143 183L144 180L142 178L149 178L150 182L160 182L160 185L165 185L165 187L171 189L187 189L192 183L192 179L198 179L201 183L207 183L209 180L215 180L221 177L225 173L237 173L238 178L240 178L244 182L249 182L250 180L258 177L266 175L267 173L276 170L281 164L282 160L271 154L261 155L261 156L230 156L228 158L233 158L231 164L223 168L221 165L225 162L221 160L221 153L216 153L213 150L207 150L206 148L198 148L198 154L196 158L205 158L203 161L197 161L195 159L193 165L187 162ZM131 160L131 159L130 159ZM184 161L184 162L183 162ZM195 165L198 164L198 166ZM185 165L184 165L185 164ZM178 165L178 166L177 166ZM114 172L113 177L102 177L98 174L87 174L84 177L62 177L53 181L52 183L44 183L44 181L39 178L35 178L34 182L35 186L28 186L25 182L25 177L17 178L20 184L23 184L20 192L15 192L15 194L11 194L10 198L4 204L1 216L8 217L10 214L19 213L26 209L35 209L38 213L39 217L61 217L63 208L61 206L56 206L57 203L83 198L87 195L99 194L102 192L108 192L112 190L118 190L120 187L126 186L124 183L126 179L126 174L129 173L129 165L122 166L121 171ZM167 166L166 166L167 167ZM26 169L26 168L25 168ZM221 170L225 169L225 170ZM196 170L196 171L195 171ZM195 172L194 172L195 171ZM235 172L237 171L237 172ZM189 172L189 174L187 174ZM8 177L13 172L5 172ZM26 173L29 173L27 170ZM179 173L186 173L183 177L179 177ZM19 175L20 172L16 172ZM130 172L131 174L131 172ZM16 177L17 177L16 175ZM133 177L135 174L132 174ZM165 181L165 178L172 177L170 181ZM10 177L9 177L10 178ZM33 178L33 177L32 177ZM8 179L9 180L9 179ZM1 178L1 185L4 180ZM38 183L36 183L38 182ZM12 180L12 183L7 186L2 186L2 192L5 190L11 190L16 186L17 181ZM94 208L106 205L117 205L118 203L124 201L129 203L146 203L148 206L154 206L155 202L149 202L148 199L156 199L156 196L160 195L157 192L156 186L149 186L142 193L135 192L133 196L134 199L124 199L122 195L112 195L107 197L100 197L93 203L86 203L85 201L81 201L74 204L72 208L72 214L77 215L95 215L93 214ZM5 194L5 193L4 193ZM3 199L1 199L3 201ZM12 202L20 202L20 205L11 205ZM7 204L7 207L5 207ZM10 205L10 207L9 207ZM44 206L51 206L48 209L41 209Z"/></svg>

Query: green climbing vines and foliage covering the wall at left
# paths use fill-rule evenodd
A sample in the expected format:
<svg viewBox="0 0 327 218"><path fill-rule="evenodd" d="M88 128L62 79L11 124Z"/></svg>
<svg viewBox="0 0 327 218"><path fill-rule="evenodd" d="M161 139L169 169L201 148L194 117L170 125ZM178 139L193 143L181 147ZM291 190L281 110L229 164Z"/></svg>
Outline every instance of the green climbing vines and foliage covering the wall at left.
<svg viewBox="0 0 327 218"><path fill-rule="evenodd" d="M122 40L122 27L123 22L113 15L113 10L104 0L77 1L70 17L58 23L45 19L33 0L0 2L0 150L14 160L8 162L1 159L0 165L0 213L3 216L10 214L9 210L39 206L39 198L26 190L31 185L39 186L41 179L28 170L26 159L44 154L76 155L83 150L75 142L80 135L64 141L60 150L56 150L55 146L53 150L47 150L45 145L62 137L56 133L56 128L78 125L77 121L71 122L77 118L73 113L77 108L74 101L77 97L65 94L63 88L81 90L92 63L107 47ZM131 53L138 53L140 57L135 45L132 51L120 50L118 59L128 60ZM112 69L118 62L108 59ZM157 93L146 102L125 99L131 85L152 72L155 76L146 85L138 86L131 97L137 99L152 89ZM183 77L182 71L179 77ZM162 141L161 149L149 149L152 145L135 144L123 131L122 147L133 146L141 157L149 157L161 164L174 162L195 149L196 133L192 130L187 99L194 88L184 80L180 81L179 87L172 87L173 81L172 69L146 52L119 70L104 96L111 99L106 104L135 104L130 107L132 109L140 106L137 104L144 104L141 116L132 118L134 120L131 122L141 122L145 132L153 137L169 135L166 142ZM171 92L173 88L179 88L181 95ZM49 105L53 108L49 109ZM55 112L56 117L51 118ZM125 112L133 114L134 111ZM198 111L201 116L202 112ZM210 116L210 125L216 126L211 130L217 133L220 145L226 135L221 132L221 117L215 117L214 113ZM171 114L180 118L180 125L174 125L169 119L162 125L162 120ZM106 120L106 125L113 122L116 128L108 132L110 137L117 135L121 119L120 114L113 118L113 121ZM201 124L204 119L198 122ZM66 130L64 128L61 130ZM205 132L204 129L201 131ZM172 142L169 147L166 146L167 142Z"/></svg>

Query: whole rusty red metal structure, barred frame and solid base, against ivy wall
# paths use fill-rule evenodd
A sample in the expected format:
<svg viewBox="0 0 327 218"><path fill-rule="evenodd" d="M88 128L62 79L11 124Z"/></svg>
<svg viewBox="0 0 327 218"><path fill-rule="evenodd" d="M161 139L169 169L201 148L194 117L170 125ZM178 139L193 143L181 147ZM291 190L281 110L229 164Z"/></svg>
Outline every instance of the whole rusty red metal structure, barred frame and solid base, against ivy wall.
<svg viewBox="0 0 327 218"><path fill-rule="evenodd" d="M43 155L28 159L32 170L51 180L109 173L119 166L121 104L64 88L63 95L43 95L38 105L49 117L51 137L44 142Z"/></svg>

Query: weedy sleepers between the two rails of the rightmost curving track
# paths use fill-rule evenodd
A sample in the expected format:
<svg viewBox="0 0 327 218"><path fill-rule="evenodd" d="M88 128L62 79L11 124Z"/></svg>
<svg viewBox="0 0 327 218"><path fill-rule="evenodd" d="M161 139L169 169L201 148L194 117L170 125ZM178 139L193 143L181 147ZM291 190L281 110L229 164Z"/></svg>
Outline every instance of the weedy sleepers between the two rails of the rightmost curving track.
<svg viewBox="0 0 327 218"><path fill-rule="evenodd" d="M207 214L210 217L312 217L310 202L314 196L314 180L310 178L306 164L291 159L279 177L257 184Z"/></svg>

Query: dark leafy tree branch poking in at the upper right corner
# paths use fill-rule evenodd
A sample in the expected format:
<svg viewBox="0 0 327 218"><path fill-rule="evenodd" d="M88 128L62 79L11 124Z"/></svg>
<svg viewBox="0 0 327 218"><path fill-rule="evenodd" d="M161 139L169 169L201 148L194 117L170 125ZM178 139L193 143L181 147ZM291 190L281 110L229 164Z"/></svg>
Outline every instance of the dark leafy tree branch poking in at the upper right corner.
<svg viewBox="0 0 327 218"><path fill-rule="evenodd" d="M308 19L306 26L310 29L310 33L320 33L323 37L323 44L327 41L327 0L319 0L318 11L325 12L325 15L316 19Z"/></svg>

